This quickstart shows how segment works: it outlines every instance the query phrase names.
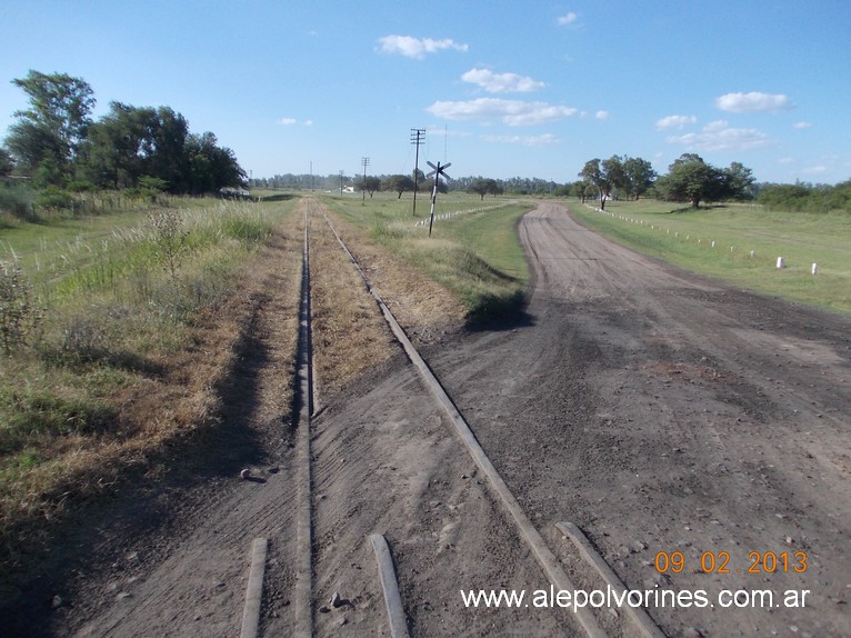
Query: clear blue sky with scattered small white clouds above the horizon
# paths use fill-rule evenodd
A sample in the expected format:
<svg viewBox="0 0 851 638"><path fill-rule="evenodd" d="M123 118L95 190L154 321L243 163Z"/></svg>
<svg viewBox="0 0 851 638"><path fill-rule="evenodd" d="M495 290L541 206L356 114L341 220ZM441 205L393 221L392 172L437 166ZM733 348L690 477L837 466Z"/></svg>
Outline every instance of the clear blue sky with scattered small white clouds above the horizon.
<svg viewBox="0 0 851 638"><path fill-rule="evenodd" d="M0 134L30 69L168 106L254 177L573 181L683 152L759 181L851 179L851 2L3 0Z"/></svg>

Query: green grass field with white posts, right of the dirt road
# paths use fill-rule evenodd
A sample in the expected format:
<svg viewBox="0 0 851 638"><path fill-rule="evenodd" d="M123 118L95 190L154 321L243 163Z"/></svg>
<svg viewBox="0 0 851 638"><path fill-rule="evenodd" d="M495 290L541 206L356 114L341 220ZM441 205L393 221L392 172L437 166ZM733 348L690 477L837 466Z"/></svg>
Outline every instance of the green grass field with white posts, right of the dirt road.
<svg viewBox="0 0 851 638"><path fill-rule="evenodd" d="M750 205L695 211L655 200L608 202L609 215L578 202L570 208L582 223L647 255L742 288L851 312L851 216ZM778 257L785 268L777 268Z"/></svg>

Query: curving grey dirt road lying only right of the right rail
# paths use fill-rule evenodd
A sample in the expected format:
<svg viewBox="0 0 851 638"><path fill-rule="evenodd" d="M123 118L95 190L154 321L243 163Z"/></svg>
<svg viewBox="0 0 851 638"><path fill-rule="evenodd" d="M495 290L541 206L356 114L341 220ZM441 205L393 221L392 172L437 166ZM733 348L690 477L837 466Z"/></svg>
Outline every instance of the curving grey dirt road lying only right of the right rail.
<svg viewBox="0 0 851 638"><path fill-rule="evenodd" d="M573 520L628 587L705 590L714 608L648 608L670 635L851 635L848 318L637 256L554 205L520 233L529 325L431 361L540 529L555 544ZM660 551L684 569L660 575ZM799 551L802 572L763 562ZM722 589L775 606L724 609ZM807 606L780 607L793 589Z"/></svg>

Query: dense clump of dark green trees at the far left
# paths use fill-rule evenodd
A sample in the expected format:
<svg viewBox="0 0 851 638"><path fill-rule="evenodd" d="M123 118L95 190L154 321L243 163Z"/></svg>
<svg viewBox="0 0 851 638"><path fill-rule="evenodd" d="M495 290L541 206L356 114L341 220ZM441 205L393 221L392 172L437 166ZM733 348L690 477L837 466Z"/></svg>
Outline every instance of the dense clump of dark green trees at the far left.
<svg viewBox="0 0 851 638"><path fill-rule="evenodd" d="M0 175L28 177L39 188L138 189L174 195L242 187L246 172L211 132L189 130L169 107L110 102L91 118L91 87L66 73L30 71L12 80L29 97L0 147Z"/></svg>

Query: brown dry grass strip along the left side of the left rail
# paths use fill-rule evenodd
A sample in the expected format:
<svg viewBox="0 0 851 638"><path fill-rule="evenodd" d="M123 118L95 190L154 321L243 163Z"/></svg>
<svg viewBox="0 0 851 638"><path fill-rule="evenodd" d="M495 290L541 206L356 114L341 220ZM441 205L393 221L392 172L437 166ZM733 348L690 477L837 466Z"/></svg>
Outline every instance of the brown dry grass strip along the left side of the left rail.
<svg viewBox="0 0 851 638"><path fill-rule="evenodd" d="M242 436L240 428L249 436L251 418L289 417L301 268L301 243L293 237L299 231L296 216L284 217L243 265L224 301L192 322L184 347L149 355L150 369L109 397L117 421L112 433L57 437L44 452L50 460L7 477L14 480L4 480L0 498L3 579L32 568L26 562L31 550L57 542L63 520L83 506L150 489L169 472L214 465L214 452L227 449L228 437ZM259 341L262 365L273 375L247 371L246 359L256 355L250 350ZM230 400L247 392L266 413L229 412Z"/></svg>

